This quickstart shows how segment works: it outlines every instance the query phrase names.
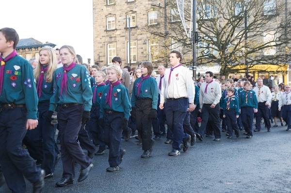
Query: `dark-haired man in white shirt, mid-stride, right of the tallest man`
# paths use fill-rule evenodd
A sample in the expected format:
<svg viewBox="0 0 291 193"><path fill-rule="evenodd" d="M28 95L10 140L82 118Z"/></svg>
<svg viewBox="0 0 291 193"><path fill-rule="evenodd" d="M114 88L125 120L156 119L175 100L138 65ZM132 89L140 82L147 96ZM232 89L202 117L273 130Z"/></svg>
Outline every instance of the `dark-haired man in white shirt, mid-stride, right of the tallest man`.
<svg viewBox="0 0 291 193"><path fill-rule="evenodd" d="M211 125L214 130L214 140L220 141L220 98L221 98L221 87L218 82L213 81L213 73L205 73L205 81L201 84L200 95L199 95L199 104L201 112L201 126L196 133L197 138L202 141L209 117L211 116Z"/></svg>

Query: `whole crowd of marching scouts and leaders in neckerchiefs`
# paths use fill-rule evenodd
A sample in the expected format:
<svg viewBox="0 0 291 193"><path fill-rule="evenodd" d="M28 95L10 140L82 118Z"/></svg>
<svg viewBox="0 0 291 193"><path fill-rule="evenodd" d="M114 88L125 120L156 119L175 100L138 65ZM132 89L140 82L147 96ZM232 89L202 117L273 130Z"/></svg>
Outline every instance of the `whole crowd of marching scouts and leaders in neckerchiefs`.
<svg viewBox="0 0 291 193"><path fill-rule="evenodd" d="M42 47L33 68L17 55L18 41L14 29L0 29L0 180L3 173L13 193L26 192L24 177L32 182L33 193L42 192L60 157L58 187L74 182L75 163L81 165L78 181L85 180L94 166L93 154L103 155L106 149L106 171L119 170L126 153L121 140L129 141L136 130L141 158L152 156L162 135L164 143L172 144L168 155L178 156L196 137L203 141L214 134L214 141L220 141L221 132L230 139L233 131L240 137L244 129L246 138L252 138L261 130L261 119L268 132L273 118L273 127L285 121L291 130L290 85L270 89L264 78L256 83L249 77L220 80L210 71L196 82L175 50L169 55L171 67L158 67L159 76L150 61L121 68L119 57L113 65L90 69L70 45Z"/></svg>

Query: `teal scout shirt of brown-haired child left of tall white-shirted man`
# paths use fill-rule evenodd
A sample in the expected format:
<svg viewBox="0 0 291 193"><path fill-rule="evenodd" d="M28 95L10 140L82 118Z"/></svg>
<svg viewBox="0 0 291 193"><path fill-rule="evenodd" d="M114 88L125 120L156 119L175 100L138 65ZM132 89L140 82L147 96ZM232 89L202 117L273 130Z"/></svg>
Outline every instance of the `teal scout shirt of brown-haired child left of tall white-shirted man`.
<svg viewBox="0 0 291 193"><path fill-rule="evenodd" d="M140 94L137 97L138 85L141 82L141 78L137 78L134 81L133 89L132 89L132 96L131 96L131 106L135 107L135 102L137 98L139 99L152 99L152 107L153 109L157 110L158 107L158 86L157 82L153 77L146 78L143 80Z"/></svg>

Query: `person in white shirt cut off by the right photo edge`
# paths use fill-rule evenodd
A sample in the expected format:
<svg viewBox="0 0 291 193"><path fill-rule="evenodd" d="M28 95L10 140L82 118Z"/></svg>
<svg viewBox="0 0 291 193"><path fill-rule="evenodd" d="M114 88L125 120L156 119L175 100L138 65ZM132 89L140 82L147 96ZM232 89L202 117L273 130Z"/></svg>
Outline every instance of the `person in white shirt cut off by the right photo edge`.
<svg viewBox="0 0 291 193"><path fill-rule="evenodd" d="M291 131L291 91L290 85L285 85L285 91L281 94L281 100L279 100L278 110L281 111L282 117L288 124L286 131Z"/></svg>

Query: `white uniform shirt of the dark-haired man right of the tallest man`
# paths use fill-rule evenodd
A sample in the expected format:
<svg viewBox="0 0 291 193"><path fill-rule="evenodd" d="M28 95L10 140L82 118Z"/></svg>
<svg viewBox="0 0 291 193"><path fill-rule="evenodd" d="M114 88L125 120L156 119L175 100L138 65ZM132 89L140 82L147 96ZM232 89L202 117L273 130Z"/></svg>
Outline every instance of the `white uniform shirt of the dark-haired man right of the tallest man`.
<svg viewBox="0 0 291 193"><path fill-rule="evenodd" d="M200 86L199 104L201 109L203 104L218 104L222 95L219 83L214 80L208 84L205 93L207 84L207 82L203 82Z"/></svg>

